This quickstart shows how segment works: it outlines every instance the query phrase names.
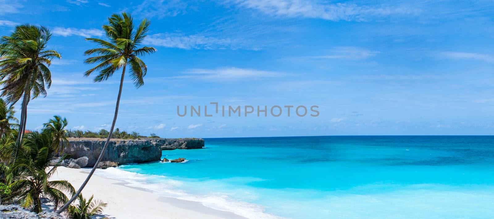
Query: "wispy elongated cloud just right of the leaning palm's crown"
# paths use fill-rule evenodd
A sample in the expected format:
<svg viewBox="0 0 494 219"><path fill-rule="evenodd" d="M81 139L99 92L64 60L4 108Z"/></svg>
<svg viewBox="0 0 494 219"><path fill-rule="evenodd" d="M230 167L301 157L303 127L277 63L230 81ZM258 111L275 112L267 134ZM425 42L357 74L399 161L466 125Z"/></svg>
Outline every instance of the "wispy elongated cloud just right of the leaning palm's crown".
<svg viewBox="0 0 494 219"><path fill-rule="evenodd" d="M154 34L145 38L144 43L180 49L249 49L257 48L249 46L246 40L206 37L201 35L181 34Z"/></svg>

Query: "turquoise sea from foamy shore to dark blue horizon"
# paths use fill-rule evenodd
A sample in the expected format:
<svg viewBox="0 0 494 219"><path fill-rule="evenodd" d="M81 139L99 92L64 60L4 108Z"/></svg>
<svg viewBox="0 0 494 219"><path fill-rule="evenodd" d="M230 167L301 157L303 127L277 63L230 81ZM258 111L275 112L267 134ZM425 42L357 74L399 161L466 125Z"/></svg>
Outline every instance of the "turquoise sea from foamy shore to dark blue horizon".
<svg viewBox="0 0 494 219"><path fill-rule="evenodd" d="M494 136L205 140L97 174L250 219L494 218Z"/></svg>

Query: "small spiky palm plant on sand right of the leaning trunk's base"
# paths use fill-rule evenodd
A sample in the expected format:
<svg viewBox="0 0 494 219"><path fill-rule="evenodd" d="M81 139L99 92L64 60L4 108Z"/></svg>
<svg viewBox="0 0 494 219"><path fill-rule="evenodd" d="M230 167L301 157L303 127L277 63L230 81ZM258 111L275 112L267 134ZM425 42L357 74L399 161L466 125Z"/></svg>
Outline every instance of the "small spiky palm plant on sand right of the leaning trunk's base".
<svg viewBox="0 0 494 219"><path fill-rule="evenodd" d="M93 196L86 200L82 194L77 196L79 203L69 206L69 218L71 219L94 219L95 215L103 212L103 208L107 206L102 201L93 201Z"/></svg>

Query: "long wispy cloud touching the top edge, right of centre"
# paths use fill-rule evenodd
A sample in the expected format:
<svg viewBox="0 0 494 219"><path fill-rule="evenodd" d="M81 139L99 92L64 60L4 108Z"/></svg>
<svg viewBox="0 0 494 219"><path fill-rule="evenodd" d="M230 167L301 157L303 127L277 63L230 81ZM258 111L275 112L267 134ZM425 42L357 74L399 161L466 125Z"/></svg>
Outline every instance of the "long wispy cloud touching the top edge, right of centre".
<svg viewBox="0 0 494 219"><path fill-rule="evenodd" d="M319 18L330 21L368 21L390 15L416 13L415 10L407 7L367 6L312 0L231 0L229 2L270 16Z"/></svg>

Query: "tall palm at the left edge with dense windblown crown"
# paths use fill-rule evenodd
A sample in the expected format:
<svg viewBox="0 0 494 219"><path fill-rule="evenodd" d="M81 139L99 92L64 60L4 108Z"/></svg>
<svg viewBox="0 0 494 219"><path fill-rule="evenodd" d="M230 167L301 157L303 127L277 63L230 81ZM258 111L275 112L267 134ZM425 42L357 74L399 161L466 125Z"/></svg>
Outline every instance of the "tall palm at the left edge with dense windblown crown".
<svg viewBox="0 0 494 219"><path fill-rule="evenodd" d="M50 39L50 31L45 27L19 25L10 36L0 38L0 85L1 97L6 97L14 105L22 97L21 121L16 140L21 147L26 130L27 106L30 99L46 96L46 88L51 85L48 67L53 58L61 58L55 50L45 50ZM14 159L17 150L14 152Z"/></svg>

